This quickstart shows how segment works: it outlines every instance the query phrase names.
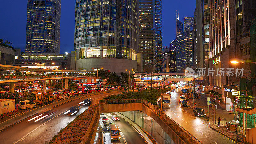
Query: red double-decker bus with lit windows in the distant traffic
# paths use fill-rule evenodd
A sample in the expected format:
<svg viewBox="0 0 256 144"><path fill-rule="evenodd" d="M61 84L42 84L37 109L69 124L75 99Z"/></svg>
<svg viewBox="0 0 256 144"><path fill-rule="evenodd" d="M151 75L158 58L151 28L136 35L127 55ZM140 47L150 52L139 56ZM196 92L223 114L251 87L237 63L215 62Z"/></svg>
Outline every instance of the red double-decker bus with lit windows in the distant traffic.
<svg viewBox="0 0 256 144"><path fill-rule="evenodd" d="M78 83L77 90L79 93L100 92L100 83Z"/></svg>

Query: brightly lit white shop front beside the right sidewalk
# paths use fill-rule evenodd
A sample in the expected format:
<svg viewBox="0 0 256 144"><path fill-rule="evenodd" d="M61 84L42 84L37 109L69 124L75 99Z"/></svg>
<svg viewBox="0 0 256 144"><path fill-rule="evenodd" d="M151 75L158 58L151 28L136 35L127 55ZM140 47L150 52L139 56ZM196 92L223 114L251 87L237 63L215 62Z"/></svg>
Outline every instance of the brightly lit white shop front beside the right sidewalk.
<svg viewBox="0 0 256 144"><path fill-rule="evenodd" d="M236 112L238 108L238 86L234 85L223 85L223 92L226 102L226 110L229 112Z"/></svg>

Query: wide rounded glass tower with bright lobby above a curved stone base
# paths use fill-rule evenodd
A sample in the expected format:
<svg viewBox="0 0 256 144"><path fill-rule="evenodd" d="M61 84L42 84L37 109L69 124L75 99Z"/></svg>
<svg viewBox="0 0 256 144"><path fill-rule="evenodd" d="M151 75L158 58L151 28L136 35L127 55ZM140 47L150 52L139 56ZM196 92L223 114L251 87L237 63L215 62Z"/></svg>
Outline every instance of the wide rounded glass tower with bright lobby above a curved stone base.
<svg viewBox="0 0 256 144"><path fill-rule="evenodd" d="M76 0L77 70L137 69L138 0Z"/></svg>

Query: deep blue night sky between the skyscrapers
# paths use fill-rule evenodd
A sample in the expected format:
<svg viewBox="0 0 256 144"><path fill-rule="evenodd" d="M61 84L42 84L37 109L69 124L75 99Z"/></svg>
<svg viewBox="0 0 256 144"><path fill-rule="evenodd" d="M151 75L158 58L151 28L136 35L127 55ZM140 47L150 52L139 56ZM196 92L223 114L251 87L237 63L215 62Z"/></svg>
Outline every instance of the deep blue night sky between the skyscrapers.
<svg viewBox="0 0 256 144"><path fill-rule="evenodd" d="M176 11L179 20L194 16L195 0L162 0L163 47L176 37ZM27 0L2 0L0 5L0 39L13 43L25 52ZM60 53L74 50L75 0L61 1Z"/></svg>

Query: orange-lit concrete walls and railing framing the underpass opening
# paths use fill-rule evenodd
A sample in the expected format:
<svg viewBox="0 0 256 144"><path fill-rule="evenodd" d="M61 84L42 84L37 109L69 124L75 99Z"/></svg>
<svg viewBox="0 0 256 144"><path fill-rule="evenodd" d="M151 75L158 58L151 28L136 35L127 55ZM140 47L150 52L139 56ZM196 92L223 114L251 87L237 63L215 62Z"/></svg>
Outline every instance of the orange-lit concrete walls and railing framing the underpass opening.
<svg viewBox="0 0 256 144"><path fill-rule="evenodd" d="M128 116L125 115L125 113L122 113L127 111L141 112L141 114L139 114L139 116ZM148 132L148 134L150 134L158 143L202 144L202 142L196 139L196 137L191 135L182 126L173 121L172 118L143 99L100 100L100 102L97 104L97 110L93 116L92 123L90 124L89 129L87 130L88 132L86 132L84 135L81 143L93 143L99 125L99 114L111 112L120 112L128 118L131 117L132 121L137 121L139 123L137 124L146 132ZM144 120L142 120L143 122L139 122L141 120L138 120L138 117L141 117L142 114L145 114L148 117L144 118ZM152 124L153 121L154 124ZM143 125L145 128L143 128Z"/></svg>

